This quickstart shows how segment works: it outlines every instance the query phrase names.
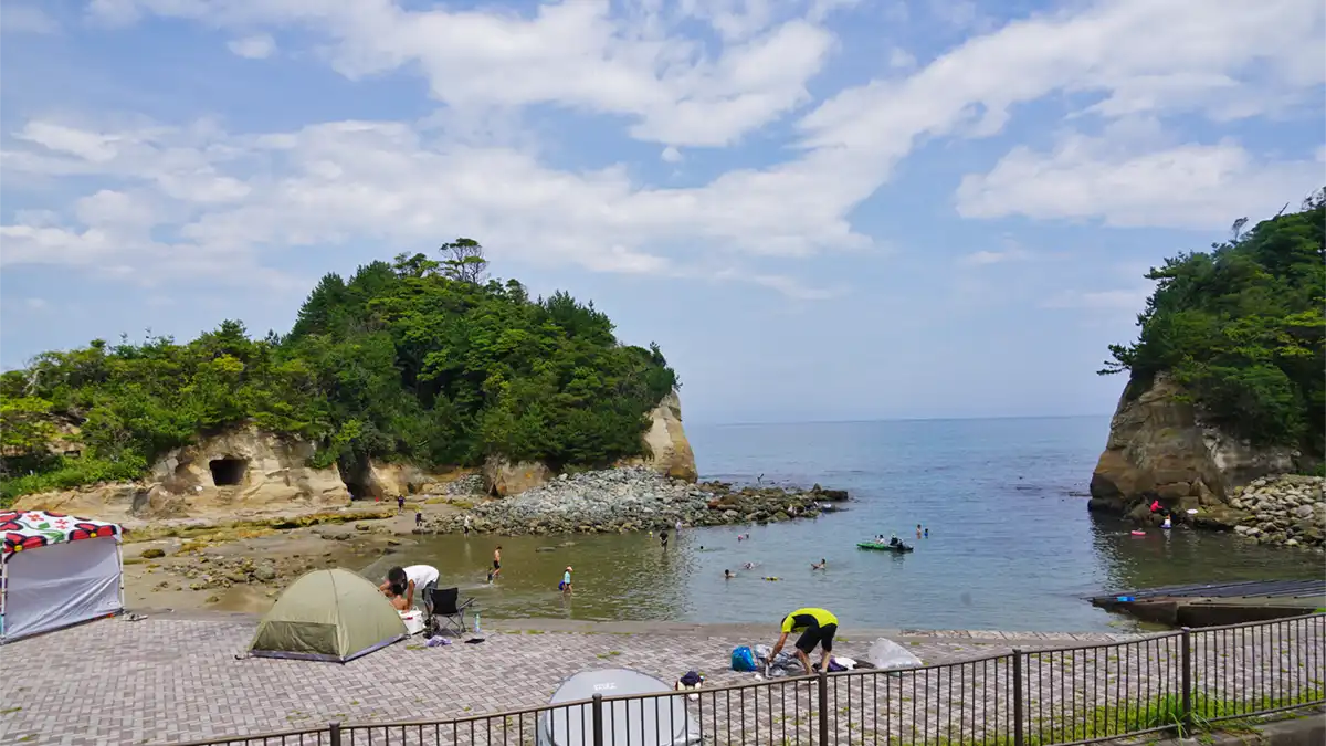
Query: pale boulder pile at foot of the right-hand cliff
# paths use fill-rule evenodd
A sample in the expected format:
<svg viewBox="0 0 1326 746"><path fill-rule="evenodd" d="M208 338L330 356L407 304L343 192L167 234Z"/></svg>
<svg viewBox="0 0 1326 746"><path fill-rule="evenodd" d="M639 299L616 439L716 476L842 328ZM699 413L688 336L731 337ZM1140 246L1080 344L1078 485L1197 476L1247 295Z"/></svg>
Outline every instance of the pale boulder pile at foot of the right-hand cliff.
<svg viewBox="0 0 1326 746"><path fill-rule="evenodd" d="M1246 514L1235 532L1260 544L1326 550L1326 478L1254 479L1229 503Z"/></svg>

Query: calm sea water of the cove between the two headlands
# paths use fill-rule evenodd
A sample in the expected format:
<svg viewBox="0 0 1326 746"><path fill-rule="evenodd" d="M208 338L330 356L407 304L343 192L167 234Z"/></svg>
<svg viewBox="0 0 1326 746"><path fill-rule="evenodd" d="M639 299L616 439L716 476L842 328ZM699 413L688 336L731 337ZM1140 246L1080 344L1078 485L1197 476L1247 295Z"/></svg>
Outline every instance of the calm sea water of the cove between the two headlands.
<svg viewBox="0 0 1326 746"><path fill-rule="evenodd" d="M1097 417L688 427L703 478L819 482L854 500L815 520L683 530L667 552L644 534L443 536L366 572L427 561L491 619L772 624L817 605L845 625L1004 631L1128 625L1085 600L1103 591L1326 575L1321 555L1187 530L1134 538L1091 518L1086 483L1107 430ZM855 547L891 531L916 551ZM489 585L497 544L503 573ZM812 571L821 558L827 569ZM568 564L572 595L557 591Z"/></svg>

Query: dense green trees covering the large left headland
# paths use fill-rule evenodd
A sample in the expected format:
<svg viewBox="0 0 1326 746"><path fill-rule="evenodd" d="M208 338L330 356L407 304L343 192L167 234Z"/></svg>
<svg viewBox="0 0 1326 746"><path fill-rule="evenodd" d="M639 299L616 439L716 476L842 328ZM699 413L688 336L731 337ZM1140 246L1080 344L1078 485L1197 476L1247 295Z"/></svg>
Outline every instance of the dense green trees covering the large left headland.
<svg viewBox="0 0 1326 746"><path fill-rule="evenodd" d="M0 374L0 502L141 477L170 449L253 423L320 443L316 466L554 467L639 455L678 386L658 345L621 345L593 303L487 279L473 240L326 275L285 336L224 321L190 342L94 340ZM53 454L57 427L82 453Z"/></svg>

